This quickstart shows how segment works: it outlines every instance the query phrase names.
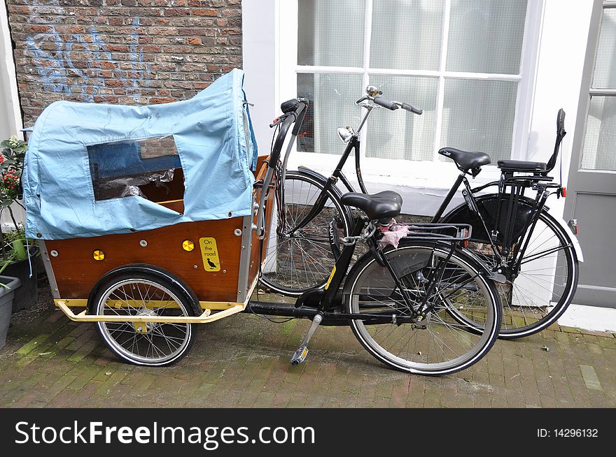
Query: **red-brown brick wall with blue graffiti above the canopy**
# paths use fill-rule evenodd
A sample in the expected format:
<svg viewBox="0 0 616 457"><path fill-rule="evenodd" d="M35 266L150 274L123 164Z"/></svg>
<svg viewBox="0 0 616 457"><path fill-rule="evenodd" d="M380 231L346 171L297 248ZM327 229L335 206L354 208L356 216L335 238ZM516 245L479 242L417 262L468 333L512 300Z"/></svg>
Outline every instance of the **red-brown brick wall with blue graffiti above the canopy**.
<svg viewBox="0 0 616 457"><path fill-rule="evenodd" d="M241 68L241 0L6 2L25 125L56 100L188 99Z"/></svg>

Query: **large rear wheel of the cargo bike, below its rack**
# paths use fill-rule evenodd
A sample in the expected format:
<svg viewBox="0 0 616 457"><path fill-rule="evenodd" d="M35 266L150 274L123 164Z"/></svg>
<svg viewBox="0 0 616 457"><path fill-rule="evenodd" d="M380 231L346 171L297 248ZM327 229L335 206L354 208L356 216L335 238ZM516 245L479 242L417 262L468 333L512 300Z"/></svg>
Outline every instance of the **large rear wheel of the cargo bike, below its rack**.
<svg viewBox="0 0 616 457"><path fill-rule="evenodd" d="M463 252L449 256L449 247L423 243L389 249L385 256L404 291L371 254L347 280L349 312L392 315L388 324L351 321L363 347L386 365L420 375L447 375L479 361L497 338L501 309L493 283L477 263ZM468 318L482 322L479 332L452 319L453 303L466 305ZM417 312L422 319L404 319Z"/></svg>

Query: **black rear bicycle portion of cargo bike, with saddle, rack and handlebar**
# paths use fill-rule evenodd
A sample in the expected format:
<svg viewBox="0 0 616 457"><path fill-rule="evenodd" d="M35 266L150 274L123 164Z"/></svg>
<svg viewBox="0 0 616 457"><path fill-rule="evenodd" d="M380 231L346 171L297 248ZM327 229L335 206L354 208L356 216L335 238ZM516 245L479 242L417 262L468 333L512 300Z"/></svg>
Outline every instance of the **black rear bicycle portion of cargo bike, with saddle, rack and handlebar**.
<svg viewBox="0 0 616 457"><path fill-rule="evenodd" d="M305 102L291 100L272 126L274 136L267 173L257 188L276 187L286 134L293 135L305 113ZM261 192L255 229L265 253L267 213L274 198ZM309 288L295 304L250 301L245 312L312 320L291 358L304 361L319 325L351 326L356 338L379 361L406 372L446 375L477 362L498 336L502 308L491 272L460 249L471 236L469 224L414 224L403 229L404 245L395 249L388 228L400 214L400 196L385 191L340 197L355 208L351 230L340 239L339 252L322 287ZM279 208L281 208L279 206ZM280 225L279 225L280 228ZM353 261L357 245L367 247ZM266 273L262 273L266 274ZM475 322L470 327L462 320Z"/></svg>

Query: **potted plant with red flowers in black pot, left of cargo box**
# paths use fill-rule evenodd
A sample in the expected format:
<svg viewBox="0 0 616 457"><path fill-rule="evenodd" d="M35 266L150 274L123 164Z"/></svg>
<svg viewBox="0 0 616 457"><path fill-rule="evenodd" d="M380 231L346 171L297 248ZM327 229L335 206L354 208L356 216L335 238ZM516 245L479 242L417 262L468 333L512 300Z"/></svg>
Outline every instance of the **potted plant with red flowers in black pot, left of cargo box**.
<svg viewBox="0 0 616 457"><path fill-rule="evenodd" d="M29 256L36 254L36 242L27 240L22 223L13 213L13 204L24 208L21 203L21 176L27 143L11 136L0 143L0 215L8 212L13 229L0 231L0 274L19 278L22 287L15 291L13 311L31 307L38 298L36 266Z"/></svg>

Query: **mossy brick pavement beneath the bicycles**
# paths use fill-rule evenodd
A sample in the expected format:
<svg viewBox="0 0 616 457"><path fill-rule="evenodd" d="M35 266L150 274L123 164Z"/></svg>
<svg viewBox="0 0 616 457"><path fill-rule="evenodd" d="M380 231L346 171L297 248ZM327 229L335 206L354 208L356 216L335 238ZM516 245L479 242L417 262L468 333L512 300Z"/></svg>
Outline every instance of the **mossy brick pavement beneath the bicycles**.
<svg viewBox="0 0 616 457"><path fill-rule="evenodd" d="M41 309L14 315L0 350L0 407L616 407L609 333L555 328L498 341L472 368L428 378L386 368L345 327L318 329L307 361L292 367L309 321L239 314L197 326L180 363L140 368L42 292Z"/></svg>

